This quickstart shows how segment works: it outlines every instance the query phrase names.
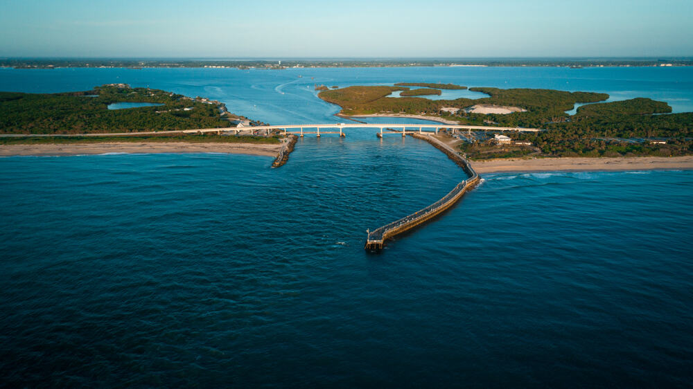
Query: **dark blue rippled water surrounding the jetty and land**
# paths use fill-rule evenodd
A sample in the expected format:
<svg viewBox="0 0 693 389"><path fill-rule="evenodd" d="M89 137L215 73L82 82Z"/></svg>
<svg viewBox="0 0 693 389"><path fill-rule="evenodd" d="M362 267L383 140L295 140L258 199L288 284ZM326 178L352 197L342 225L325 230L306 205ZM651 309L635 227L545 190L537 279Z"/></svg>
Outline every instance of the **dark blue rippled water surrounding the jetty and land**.
<svg viewBox="0 0 693 389"><path fill-rule="evenodd" d="M419 80L693 111L693 68L0 69L0 90L128 82L273 124L340 121L314 84ZM366 228L464 173L368 129L271 163L0 159L0 386L690 386L693 171L486 174L372 255Z"/></svg>

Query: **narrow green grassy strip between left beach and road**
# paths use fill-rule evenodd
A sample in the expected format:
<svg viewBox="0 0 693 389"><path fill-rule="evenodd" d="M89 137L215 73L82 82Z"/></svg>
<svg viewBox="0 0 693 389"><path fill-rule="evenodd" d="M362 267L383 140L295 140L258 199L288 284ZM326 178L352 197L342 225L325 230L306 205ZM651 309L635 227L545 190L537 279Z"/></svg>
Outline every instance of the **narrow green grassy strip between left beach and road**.
<svg viewBox="0 0 693 389"><path fill-rule="evenodd" d="M278 145L277 136L222 136L222 135L152 135L152 136L28 136L21 138L0 137L0 145L42 145L75 143L255 143Z"/></svg>

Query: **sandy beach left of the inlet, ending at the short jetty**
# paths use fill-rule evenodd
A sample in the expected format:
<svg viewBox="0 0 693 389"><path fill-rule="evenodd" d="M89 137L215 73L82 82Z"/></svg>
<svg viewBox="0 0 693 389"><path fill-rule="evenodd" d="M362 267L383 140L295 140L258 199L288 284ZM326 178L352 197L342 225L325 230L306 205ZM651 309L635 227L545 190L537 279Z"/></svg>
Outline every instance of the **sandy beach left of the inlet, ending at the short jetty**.
<svg viewBox="0 0 693 389"><path fill-rule="evenodd" d="M0 145L0 156L67 156L84 154L229 153L277 156L281 144L254 143L76 143Z"/></svg>

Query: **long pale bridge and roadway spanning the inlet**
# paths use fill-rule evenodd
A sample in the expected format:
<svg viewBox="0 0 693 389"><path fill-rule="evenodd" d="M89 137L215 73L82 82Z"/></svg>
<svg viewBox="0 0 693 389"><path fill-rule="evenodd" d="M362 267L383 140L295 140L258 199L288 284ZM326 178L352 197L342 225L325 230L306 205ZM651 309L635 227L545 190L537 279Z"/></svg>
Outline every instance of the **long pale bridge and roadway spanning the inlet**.
<svg viewBox="0 0 693 389"><path fill-rule="evenodd" d="M383 129L386 128L398 128L402 129L402 132L390 132L389 134L411 134L412 131L407 131L407 129L416 128L420 133L423 132L435 132L441 128L447 129L466 129L469 131L518 131L518 132L539 132L541 129L537 128L523 128L523 127L492 127L492 126L480 126L480 125L446 125L446 124L411 124L411 123L378 123L378 124L365 124L365 123L332 123L332 124L303 124L303 125L265 125L265 126L255 126L255 127L222 127L222 128L203 128L203 129L181 129L174 131L143 131L143 132L110 132L110 133L100 133L100 134L0 134L0 137L6 138L26 138L30 136L133 136L133 135L166 135L166 134L199 134L208 132L239 132L244 131L265 131L269 132L273 129L283 130L284 134L317 134L320 136L321 129L339 129L339 132L327 132L323 131L322 134L340 134L343 136L344 129L347 128L376 128L380 129L380 134L383 133ZM315 129L314 132L306 132L304 129ZM426 129L427 131L423 131ZM297 131L298 130L298 131ZM387 133L385 133L387 134Z"/></svg>

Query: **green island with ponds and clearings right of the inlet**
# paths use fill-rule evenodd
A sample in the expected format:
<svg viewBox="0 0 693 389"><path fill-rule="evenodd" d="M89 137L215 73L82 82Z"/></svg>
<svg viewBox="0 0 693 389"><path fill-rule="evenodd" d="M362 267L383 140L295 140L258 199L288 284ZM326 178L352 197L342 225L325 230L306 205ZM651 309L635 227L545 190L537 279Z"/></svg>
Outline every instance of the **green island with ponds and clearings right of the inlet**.
<svg viewBox="0 0 693 389"><path fill-rule="evenodd" d="M339 105L337 116L357 120L367 116L407 117L448 125L542 129L503 134L494 134L492 128L449 131L457 150L471 161L693 154L693 113L672 114L666 102L649 98L605 102L609 98L606 93L489 87L469 89L489 96L478 99L387 97L393 91L406 91L403 84L353 86L322 91L318 97ZM577 103L586 105L574 115L567 114Z"/></svg>

